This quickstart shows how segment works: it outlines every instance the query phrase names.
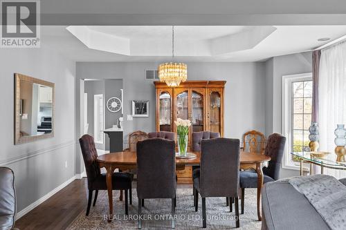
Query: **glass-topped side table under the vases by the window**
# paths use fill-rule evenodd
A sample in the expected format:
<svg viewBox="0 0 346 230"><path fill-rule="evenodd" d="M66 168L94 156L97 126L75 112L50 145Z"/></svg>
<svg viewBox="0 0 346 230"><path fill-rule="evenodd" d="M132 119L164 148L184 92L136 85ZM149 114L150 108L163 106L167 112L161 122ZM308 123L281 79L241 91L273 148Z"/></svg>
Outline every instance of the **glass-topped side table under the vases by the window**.
<svg viewBox="0 0 346 230"><path fill-rule="evenodd" d="M321 167L321 174L323 174L323 169L340 169L346 170L346 162L337 162L336 155L334 153L329 153L325 157L317 157L311 152L293 152L291 153L300 160L300 175L303 174L303 163L310 163L310 174L312 174L312 165L316 164Z"/></svg>

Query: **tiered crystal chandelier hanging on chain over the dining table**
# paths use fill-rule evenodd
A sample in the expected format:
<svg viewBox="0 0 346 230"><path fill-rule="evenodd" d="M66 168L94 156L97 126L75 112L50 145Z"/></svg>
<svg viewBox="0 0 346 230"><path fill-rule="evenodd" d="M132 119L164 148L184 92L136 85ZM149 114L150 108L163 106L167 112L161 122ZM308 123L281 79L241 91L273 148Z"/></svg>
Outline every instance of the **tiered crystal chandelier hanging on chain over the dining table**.
<svg viewBox="0 0 346 230"><path fill-rule="evenodd" d="M174 26L172 26L172 59L174 59ZM163 63L158 66L158 77L160 82L165 82L167 86L179 86L188 79L188 66L183 63Z"/></svg>

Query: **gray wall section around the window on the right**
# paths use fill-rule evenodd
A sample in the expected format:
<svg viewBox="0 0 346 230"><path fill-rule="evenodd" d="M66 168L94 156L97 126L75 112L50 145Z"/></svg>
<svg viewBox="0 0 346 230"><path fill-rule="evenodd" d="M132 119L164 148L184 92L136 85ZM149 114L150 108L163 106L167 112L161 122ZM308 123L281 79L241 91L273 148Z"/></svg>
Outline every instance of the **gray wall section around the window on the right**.
<svg viewBox="0 0 346 230"><path fill-rule="evenodd" d="M266 61L266 134L282 133L282 76L312 71L311 52L273 57ZM299 175L299 171L282 169L280 178Z"/></svg>

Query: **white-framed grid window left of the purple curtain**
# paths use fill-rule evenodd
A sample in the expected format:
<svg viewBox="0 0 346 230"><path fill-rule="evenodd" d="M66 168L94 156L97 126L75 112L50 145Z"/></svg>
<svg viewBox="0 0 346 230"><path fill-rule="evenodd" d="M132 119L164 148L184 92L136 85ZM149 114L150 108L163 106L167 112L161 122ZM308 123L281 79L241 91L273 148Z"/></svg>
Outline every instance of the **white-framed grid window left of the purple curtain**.
<svg viewBox="0 0 346 230"><path fill-rule="evenodd" d="M295 168L291 152L309 151L312 117L312 75L287 75L282 81L282 133L287 137L284 167Z"/></svg>

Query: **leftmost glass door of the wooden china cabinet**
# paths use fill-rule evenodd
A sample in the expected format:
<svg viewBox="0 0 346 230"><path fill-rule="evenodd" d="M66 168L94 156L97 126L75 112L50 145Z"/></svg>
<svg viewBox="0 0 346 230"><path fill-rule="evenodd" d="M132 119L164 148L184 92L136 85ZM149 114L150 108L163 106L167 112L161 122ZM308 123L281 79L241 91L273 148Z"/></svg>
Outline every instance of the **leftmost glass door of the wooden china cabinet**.
<svg viewBox="0 0 346 230"><path fill-rule="evenodd" d="M158 98L160 131L172 132L172 90L162 91Z"/></svg>

